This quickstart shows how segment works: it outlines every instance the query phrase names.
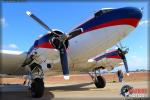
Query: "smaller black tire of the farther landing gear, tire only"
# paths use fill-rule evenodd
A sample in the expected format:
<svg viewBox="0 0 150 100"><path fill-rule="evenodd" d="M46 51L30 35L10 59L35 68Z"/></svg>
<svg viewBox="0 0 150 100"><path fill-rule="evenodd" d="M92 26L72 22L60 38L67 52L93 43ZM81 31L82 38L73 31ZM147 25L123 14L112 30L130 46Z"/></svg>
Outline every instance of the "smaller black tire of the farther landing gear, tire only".
<svg viewBox="0 0 150 100"><path fill-rule="evenodd" d="M106 80L103 76L97 76L94 84L97 88L104 88L106 86Z"/></svg>

